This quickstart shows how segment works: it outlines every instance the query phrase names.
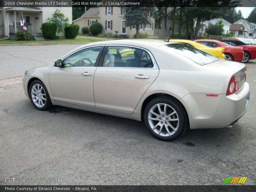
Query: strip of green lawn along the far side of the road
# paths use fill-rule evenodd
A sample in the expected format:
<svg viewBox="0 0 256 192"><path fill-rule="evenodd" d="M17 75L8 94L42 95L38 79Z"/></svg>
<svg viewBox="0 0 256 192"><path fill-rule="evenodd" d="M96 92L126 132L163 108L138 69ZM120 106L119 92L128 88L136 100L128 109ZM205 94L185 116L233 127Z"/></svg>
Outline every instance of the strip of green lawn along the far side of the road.
<svg viewBox="0 0 256 192"><path fill-rule="evenodd" d="M28 41L28 44L65 44L65 43L92 43L104 41L102 38L79 37L75 39L58 39L58 40L45 40L45 41ZM26 41L13 41L13 40L0 40L1 44L26 44Z"/></svg>

